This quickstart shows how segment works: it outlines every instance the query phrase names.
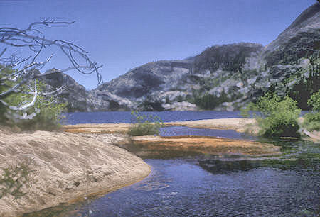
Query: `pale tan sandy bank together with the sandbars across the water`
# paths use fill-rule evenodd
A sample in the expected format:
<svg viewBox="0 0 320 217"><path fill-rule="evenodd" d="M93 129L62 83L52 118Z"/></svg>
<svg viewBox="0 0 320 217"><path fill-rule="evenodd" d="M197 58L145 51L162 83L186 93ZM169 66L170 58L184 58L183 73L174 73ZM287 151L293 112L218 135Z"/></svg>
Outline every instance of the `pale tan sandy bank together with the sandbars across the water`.
<svg viewBox="0 0 320 217"><path fill-rule="evenodd" d="M0 216L21 216L23 213L40 211L62 203L74 204L85 201L87 197L103 196L147 177L151 172L149 165L132 152L121 148L121 145L120 148L115 146L128 143L129 140L124 134L130 126L130 123L86 123L63 126L64 132L13 133L0 130L0 168L4 169L14 163L32 159L31 169L38 173L36 179L40 180L31 187L31 194L28 192L22 199L14 201L11 195L2 197ZM164 126L236 130L240 133L249 130L251 134L257 132L257 123L252 118L175 121L164 123ZM255 128L255 131L250 131L250 127ZM238 150L237 153L246 153L251 149L254 151L253 155L257 155L260 150L263 150L262 155L279 154L279 148L270 144L248 141L244 143L243 140L195 136L140 137L132 138L131 141L145 148L150 145L154 148L156 142L159 148L164 150L188 148L201 152L206 148L214 153L220 148L221 152L228 150L228 153L232 154L235 150ZM239 149L242 146L247 150ZM152 150L152 146L150 147ZM158 152L160 149L155 151ZM65 168L70 165L70 168Z"/></svg>

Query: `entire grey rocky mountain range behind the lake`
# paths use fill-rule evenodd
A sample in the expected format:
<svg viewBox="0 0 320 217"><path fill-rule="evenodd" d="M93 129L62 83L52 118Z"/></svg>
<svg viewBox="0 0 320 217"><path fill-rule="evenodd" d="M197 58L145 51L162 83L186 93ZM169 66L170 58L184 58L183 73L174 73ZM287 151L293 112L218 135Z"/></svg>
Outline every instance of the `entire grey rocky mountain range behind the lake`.
<svg viewBox="0 0 320 217"><path fill-rule="evenodd" d="M308 109L310 93L320 89L319 48L320 4L316 3L265 47L213 45L186 60L136 67L89 92L70 82L70 77L60 77L71 84L63 96L77 111L234 110L267 91L288 94Z"/></svg>

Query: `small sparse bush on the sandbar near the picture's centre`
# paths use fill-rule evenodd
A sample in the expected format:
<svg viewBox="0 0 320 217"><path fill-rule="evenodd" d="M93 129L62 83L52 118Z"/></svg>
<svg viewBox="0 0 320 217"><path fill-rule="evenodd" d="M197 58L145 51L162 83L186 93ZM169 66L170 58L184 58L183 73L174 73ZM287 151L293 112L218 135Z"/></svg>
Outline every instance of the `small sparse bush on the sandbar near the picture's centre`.
<svg viewBox="0 0 320 217"><path fill-rule="evenodd" d="M129 135L159 135L159 130L163 126L163 121L158 116L141 115L137 111L132 111L134 125L129 129Z"/></svg>

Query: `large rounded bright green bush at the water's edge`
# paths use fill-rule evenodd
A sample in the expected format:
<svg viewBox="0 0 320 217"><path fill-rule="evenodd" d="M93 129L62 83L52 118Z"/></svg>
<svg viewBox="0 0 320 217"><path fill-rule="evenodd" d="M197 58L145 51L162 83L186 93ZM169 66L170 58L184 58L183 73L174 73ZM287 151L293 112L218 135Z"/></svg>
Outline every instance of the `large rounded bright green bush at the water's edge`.
<svg viewBox="0 0 320 217"><path fill-rule="evenodd" d="M257 101L256 109L262 113L262 117L256 116L261 135L276 138L299 137L297 118L301 109L297 107L297 101L289 96L282 99L275 94L266 94Z"/></svg>

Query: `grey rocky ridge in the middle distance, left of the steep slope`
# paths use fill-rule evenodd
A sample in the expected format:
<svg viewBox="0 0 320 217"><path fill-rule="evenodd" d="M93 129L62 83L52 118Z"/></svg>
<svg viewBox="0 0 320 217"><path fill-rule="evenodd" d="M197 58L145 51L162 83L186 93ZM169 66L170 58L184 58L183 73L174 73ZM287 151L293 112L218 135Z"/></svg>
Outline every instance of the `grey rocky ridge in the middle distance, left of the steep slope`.
<svg viewBox="0 0 320 217"><path fill-rule="evenodd" d="M122 97L127 108L142 111L162 110L198 110L194 101L194 92L205 94L208 87L215 87L211 92L220 95L223 89L213 83L228 80L234 72L245 65L246 57L262 50L262 45L255 43L237 43L215 45L200 55L188 60L151 62L130 70L92 90L92 96L99 96L103 91ZM231 80L228 80L230 83ZM232 83L232 82L231 82ZM238 81L234 82L235 86ZM230 85L223 86L225 91ZM221 89L221 91L220 91ZM232 92L232 87L230 92ZM122 103L123 104L123 103Z"/></svg>

